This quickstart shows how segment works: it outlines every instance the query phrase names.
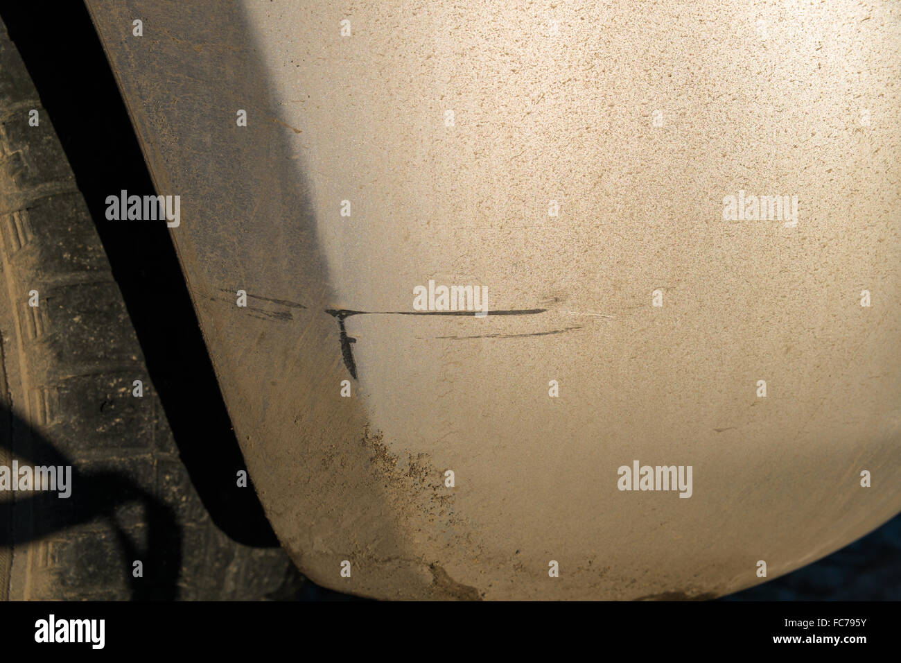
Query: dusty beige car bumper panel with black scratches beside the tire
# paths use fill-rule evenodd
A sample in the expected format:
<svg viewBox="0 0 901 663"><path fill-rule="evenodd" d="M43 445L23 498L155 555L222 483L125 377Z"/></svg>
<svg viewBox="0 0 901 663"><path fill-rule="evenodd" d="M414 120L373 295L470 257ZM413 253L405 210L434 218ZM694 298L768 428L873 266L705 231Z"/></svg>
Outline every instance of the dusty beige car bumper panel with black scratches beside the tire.
<svg viewBox="0 0 901 663"><path fill-rule="evenodd" d="M704 598L901 508L893 3L88 5L317 583ZM724 221L740 190L796 226ZM409 315L429 280L521 314Z"/></svg>

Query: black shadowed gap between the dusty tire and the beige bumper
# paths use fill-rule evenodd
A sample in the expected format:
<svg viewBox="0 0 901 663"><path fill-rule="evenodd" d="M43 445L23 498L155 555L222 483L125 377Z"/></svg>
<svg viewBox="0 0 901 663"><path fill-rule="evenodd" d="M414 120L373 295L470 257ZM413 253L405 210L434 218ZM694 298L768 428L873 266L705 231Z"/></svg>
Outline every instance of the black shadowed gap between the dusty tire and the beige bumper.
<svg viewBox="0 0 901 663"><path fill-rule="evenodd" d="M75 172L191 481L232 539L278 546L256 493L234 490L244 461L168 228L105 218L107 196L155 191L85 6L35 0L0 16Z"/></svg>

